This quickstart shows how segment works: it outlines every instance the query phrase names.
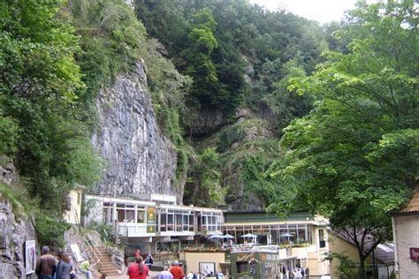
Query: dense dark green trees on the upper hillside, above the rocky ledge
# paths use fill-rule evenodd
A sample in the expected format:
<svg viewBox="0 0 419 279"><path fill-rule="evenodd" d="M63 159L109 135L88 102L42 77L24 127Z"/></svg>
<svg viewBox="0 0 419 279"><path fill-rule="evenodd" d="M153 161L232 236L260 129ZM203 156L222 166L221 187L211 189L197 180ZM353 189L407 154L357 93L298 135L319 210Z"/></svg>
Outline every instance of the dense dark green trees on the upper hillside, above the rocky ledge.
<svg viewBox="0 0 419 279"><path fill-rule="evenodd" d="M225 117L243 104L273 109L263 96L278 95L273 92L287 74L281 70L284 64L295 58L310 72L322 49L323 34L316 23L285 11L264 11L248 1L138 1L137 11L177 68L194 79L188 106L218 109ZM288 103L293 114L306 114L306 108L293 106L301 97L291 98L296 100ZM199 118L200 109L196 113ZM282 112L276 117L281 118L279 129L289 122ZM193 131L194 120L187 119L185 126Z"/></svg>

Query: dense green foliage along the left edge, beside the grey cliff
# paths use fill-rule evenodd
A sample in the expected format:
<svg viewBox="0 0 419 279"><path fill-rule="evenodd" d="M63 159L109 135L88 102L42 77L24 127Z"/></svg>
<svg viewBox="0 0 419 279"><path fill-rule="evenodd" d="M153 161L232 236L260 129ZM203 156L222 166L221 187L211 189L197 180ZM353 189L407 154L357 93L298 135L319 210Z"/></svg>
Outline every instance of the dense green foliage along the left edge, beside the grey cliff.
<svg viewBox="0 0 419 279"><path fill-rule="evenodd" d="M92 185L100 163L77 104L85 86L74 29L60 1L0 4L0 150L14 158L32 196L61 212L74 183Z"/></svg>

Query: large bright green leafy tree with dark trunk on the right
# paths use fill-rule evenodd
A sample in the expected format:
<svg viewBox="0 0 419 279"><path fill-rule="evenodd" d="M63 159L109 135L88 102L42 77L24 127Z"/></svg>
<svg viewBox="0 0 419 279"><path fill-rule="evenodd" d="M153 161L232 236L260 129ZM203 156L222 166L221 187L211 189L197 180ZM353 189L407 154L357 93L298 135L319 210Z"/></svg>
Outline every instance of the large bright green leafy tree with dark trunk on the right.
<svg viewBox="0 0 419 279"><path fill-rule="evenodd" d="M328 53L288 87L319 101L286 128L285 165L270 170L293 179L294 208L328 217L354 242L362 278L369 254L392 237L389 213L418 183L416 19L414 1L359 2L349 12L339 34L351 40L348 53Z"/></svg>

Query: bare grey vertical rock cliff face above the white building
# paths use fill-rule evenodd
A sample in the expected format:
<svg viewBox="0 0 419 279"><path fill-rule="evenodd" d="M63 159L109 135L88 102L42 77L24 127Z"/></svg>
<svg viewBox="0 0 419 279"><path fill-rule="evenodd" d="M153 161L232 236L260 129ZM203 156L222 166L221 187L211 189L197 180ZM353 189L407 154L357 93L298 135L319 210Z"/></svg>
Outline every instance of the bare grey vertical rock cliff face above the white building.
<svg viewBox="0 0 419 279"><path fill-rule="evenodd" d="M175 194L177 153L160 131L149 94L144 63L120 76L97 99L99 129L93 143L106 161L103 180L96 192L111 196L141 193Z"/></svg>

